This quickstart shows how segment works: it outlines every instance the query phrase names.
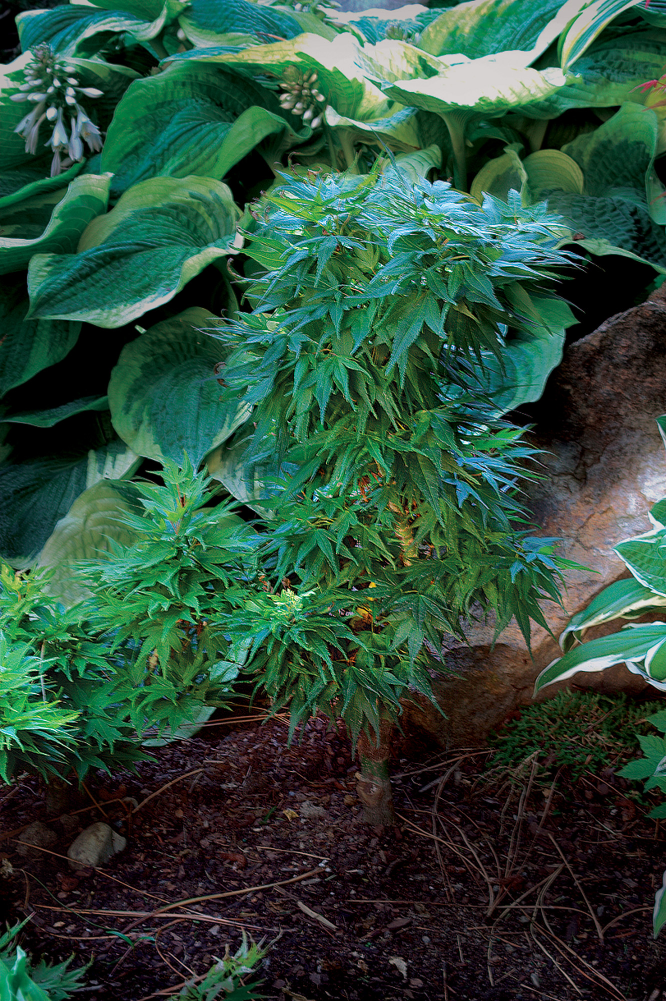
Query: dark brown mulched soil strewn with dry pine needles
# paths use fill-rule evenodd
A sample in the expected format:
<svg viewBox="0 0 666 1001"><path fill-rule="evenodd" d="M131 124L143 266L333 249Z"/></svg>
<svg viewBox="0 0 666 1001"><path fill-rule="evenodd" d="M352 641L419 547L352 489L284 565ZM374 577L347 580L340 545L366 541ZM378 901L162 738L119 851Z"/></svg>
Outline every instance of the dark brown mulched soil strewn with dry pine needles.
<svg viewBox="0 0 666 1001"><path fill-rule="evenodd" d="M33 955L92 959L90 1001L176 993L242 929L273 943L274 1001L666 999L664 838L623 780L400 754L391 830L360 823L349 746L320 720L292 748L280 719L214 724L55 820L26 777L0 794L0 905L33 915ZM58 841L22 856L37 819ZM95 820L128 846L75 875L67 847Z"/></svg>

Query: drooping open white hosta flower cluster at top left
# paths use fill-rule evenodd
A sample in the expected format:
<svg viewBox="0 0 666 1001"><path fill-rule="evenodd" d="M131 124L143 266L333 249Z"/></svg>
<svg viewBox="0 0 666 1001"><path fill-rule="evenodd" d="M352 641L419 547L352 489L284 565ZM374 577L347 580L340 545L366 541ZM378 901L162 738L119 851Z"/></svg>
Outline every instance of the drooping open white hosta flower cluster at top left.
<svg viewBox="0 0 666 1001"><path fill-rule="evenodd" d="M33 107L15 132L25 139L26 153L36 153L44 122L52 127L45 145L53 150L51 176L82 160L84 143L92 152L102 148L100 131L79 103L81 96L101 97L95 87L82 87L73 66L58 59L50 45L38 45L25 71L25 83L13 101L29 101Z"/></svg>

